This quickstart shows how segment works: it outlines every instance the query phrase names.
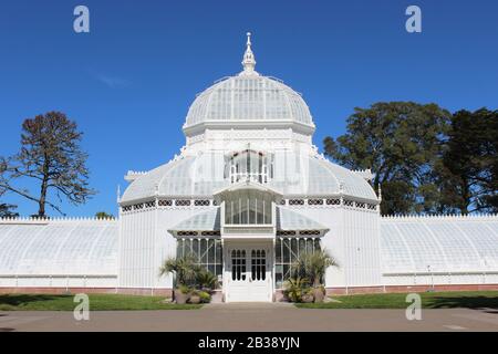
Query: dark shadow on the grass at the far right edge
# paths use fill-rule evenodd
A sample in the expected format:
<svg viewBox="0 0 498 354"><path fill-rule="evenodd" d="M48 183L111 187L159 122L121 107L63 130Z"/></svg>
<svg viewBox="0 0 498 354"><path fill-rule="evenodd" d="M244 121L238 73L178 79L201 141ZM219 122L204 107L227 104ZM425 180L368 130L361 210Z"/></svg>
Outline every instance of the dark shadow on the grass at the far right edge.
<svg viewBox="0 0 498 354"><path fill-rule="evenodd" d="M488 309L498 310L498 296L434 296L427 299L425 303L427 309ZM498 314L498 311L489 311Z"/></svg>

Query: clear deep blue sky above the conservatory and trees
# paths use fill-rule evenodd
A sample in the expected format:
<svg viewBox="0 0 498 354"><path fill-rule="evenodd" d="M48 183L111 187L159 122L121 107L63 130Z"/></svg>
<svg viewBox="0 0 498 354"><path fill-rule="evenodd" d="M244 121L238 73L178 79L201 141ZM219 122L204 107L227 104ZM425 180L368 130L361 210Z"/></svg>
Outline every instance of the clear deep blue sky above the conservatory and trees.
<svg viewBox="0 0 498 354"><path fill-rule="evenodd" d="M77 4L90 9L90 33L73 31ZM422 33L405 31L409 4L422 8ZM494 0L2 1L0 155L17 152L24 118L66 113L85 134L98 195L63 209L116 214L124 174L167 162L184 144L195 95L241 70L247 31L257 70L303 94L320 148L344 133L355 106L377 101L498 108Z"/></svg>

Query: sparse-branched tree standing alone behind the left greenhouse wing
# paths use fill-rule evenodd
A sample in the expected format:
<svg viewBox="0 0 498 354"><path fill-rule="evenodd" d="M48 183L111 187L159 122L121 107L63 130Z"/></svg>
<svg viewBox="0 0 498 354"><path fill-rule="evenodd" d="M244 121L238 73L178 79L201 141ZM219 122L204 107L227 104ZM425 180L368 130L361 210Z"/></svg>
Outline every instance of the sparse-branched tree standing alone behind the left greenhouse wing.
<svg viewBox="0 0 498 354"><path fill-rule="evenodd" d="M22 123L21 150L12 158L3 159L9 178L0 180L0 188L38 202L39 217L45 217L46 205L63 215L60 207L49 200L50 190L55 192L59 201L65 197L74 205L84 204L95 190L87 184L87 154L80 147L82 135L76 123L60 112L25 119ZM40 191L31 194L13 187L11 181L20 177L35 179Z"/></svg>

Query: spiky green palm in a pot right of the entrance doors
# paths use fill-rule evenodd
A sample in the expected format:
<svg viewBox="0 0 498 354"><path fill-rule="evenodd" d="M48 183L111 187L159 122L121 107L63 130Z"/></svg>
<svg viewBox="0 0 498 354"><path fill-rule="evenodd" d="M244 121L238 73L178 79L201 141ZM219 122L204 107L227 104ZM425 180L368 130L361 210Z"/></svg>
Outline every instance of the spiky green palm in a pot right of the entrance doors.
<svg viewBox="0 0 498 354"><path fill-rule="evenodd" d="M314 302L323 302L325 288L322 282L329 267L339 267L338 262L325 251L315 250L299 254L291 267L292 277L302 277L310 280Z"/></svg>

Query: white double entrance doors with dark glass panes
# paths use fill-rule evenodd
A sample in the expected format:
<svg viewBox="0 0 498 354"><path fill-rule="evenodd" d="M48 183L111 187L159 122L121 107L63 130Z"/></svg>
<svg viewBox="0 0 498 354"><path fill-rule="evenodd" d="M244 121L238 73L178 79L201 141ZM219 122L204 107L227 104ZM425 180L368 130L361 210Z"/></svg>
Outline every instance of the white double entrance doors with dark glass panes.
<svg viewBox="0 0 498 354"><path fill-rule="evenodd" d="M271 301L271 248L234 247L228 249L227 302Z"/></svg>

